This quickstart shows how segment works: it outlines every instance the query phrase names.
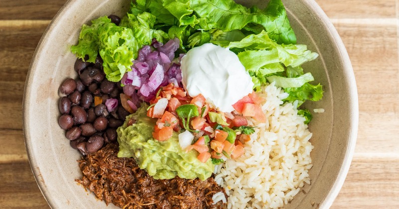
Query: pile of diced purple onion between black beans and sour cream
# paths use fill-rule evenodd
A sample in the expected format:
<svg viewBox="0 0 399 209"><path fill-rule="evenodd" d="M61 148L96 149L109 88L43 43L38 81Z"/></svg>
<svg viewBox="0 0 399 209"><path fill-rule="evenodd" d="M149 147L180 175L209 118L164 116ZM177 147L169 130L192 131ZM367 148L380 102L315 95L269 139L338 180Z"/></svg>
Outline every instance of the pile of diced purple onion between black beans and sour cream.
<svg viewBox="0 0 399 209"><path fill-rule="evenodd" d="M151 101L161 86L174 83L182 87L181 59L174 60L179 45L178 38L165 44L154 39L151 46L146 45L139 50L132 71L126 73L121 80L124 94L132 98L129 105L133 109L140 106L140 100Z"/></svg>

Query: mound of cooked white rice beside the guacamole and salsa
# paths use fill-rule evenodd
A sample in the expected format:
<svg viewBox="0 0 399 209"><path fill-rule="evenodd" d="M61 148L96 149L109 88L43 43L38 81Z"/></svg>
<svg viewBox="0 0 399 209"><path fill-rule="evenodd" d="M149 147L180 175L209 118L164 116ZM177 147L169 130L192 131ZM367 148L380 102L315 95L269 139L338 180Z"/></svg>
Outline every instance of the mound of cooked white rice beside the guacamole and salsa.
<svg viewBox="0 0 399 209"><path fill-rule="evenodd" d="M266 122L248 118L257 128L245 143L245 154L226 160L215 177L226 191L229 209L280 208L304 183L310 184L312 133L297 114L297 103L283 104L288 94L273 83L262 87L259 95L266 99L262 106Z"/></svg>

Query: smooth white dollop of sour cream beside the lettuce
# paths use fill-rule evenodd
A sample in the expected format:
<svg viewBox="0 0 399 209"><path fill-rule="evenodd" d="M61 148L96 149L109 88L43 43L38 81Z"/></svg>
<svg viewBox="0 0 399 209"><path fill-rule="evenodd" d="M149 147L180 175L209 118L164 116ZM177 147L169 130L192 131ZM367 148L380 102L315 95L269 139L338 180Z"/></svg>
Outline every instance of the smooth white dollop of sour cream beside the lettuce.
<svg viewBox="0 0 399 209"><path fill-rule="evenodd" d="M211 43L187 52L181 62L183 86L191 97L202 94L223 112L252 92L251 76L236 54Z"/></svg>

